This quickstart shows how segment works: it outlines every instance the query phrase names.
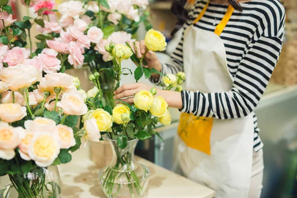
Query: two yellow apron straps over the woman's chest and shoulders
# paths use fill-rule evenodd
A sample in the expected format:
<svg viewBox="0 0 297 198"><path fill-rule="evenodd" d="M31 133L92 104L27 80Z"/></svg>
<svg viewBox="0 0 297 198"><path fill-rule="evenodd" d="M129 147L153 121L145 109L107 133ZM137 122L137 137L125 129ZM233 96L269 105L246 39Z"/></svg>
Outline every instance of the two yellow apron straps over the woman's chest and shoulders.
<svg viewBox="0 0 297 198"><path fill-rule="evenodd" d="M206 5L204 6L204 8L202 9L202 11L200 12L200 14L198 15L198 17L194 20L193 24L197 23L201 18L202 16L204 15L207 7L208 7L208 4L209 4L210 0L206 3ZM228 9L226 11L226 14L225 16L223 17L222 21L216 26L215 30L214 30L214 33L218 36L221 35L221 33L223 32L223 30L225 29L228 21L230 20L232 14L234 12L234 8L232 7L232 5L229 5L228 6Z"/></svg>

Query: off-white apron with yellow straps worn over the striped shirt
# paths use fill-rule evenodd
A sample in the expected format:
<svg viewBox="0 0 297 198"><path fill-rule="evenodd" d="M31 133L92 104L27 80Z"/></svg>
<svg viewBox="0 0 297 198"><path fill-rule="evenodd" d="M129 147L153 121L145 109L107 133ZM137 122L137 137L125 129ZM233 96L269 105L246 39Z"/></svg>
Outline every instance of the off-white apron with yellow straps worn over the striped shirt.
<svg viewBox="0 0 297 198"><path fill-rule="evenodd" d="M207 6L208 3L194 24L203 16ZM234 8L229 5L215 33L200 30L194 25L185 30L183 43L184 70L187 78L185 90L223 93L232 89L234 79L228 71L225 47L219 35L233 11ZM182 122L193 124L191 119L183 120L184 116L185 114L182 114L180 125ZM253 152L252 115L226 120L207 119L211 119L210 125L212 124L209 153L195 149L195 144L193 148L189 147L181 135L175 139L174 154L179 158L177 160L183 174L215 190L216 198L247 198ZM203 127L203 121L200 123L195 125L196 132L199 127Z"/></svg>

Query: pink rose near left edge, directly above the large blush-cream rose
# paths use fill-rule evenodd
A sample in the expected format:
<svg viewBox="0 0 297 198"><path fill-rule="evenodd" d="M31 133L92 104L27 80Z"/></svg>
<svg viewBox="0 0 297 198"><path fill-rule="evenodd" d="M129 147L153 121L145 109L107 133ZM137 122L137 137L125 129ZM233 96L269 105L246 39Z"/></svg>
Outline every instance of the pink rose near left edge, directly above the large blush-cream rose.
<svg viewBox="0 0 297 198"><path fill-rule="evenodd" d="M25 48L15 47L7 52L3 58L3 62L6 62L8 66L15 66L22 63L29 57L29 52Z"/></svg>

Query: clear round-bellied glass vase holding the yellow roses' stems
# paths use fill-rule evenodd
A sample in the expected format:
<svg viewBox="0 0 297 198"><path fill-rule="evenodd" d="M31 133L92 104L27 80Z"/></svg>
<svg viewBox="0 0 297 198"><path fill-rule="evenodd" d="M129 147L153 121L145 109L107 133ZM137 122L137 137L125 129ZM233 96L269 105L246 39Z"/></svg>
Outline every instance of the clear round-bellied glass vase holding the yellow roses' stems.
<svg viewBox="0 0 297 198"><path fill-rule="evenodd" d="M140 198L148 187L149 170L134 159L138 140L128 141L127 147L119 148L116 140L110 140L113 159L99 172L99 182L108 198Z"/></svg>

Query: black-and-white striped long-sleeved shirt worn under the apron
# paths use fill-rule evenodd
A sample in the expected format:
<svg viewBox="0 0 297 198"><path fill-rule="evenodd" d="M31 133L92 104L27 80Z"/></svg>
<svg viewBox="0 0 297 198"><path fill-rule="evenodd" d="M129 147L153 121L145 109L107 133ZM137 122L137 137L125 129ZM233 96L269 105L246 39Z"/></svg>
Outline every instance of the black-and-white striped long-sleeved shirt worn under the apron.
<svg viewBox="0 0 297 198"><path fill-rule="evenodd" d="M196 1L184 29L193 23L206 2ZM182 91L181 111L217 119L240 118L252 113L253 148L258 151L263 144L253 110L265 91L282 49L285 9L278 0L251 0L241 5L243 12L235 10L220 35L226 49L228 69L234 77L233 88L224 93ZM204 16L194 25L214 32L227 8L228 5L209 3ZM170 61L162 65L162 73L176 74L183 71L183 39ZM154 79L156 83L158 80Z"/></svg>

